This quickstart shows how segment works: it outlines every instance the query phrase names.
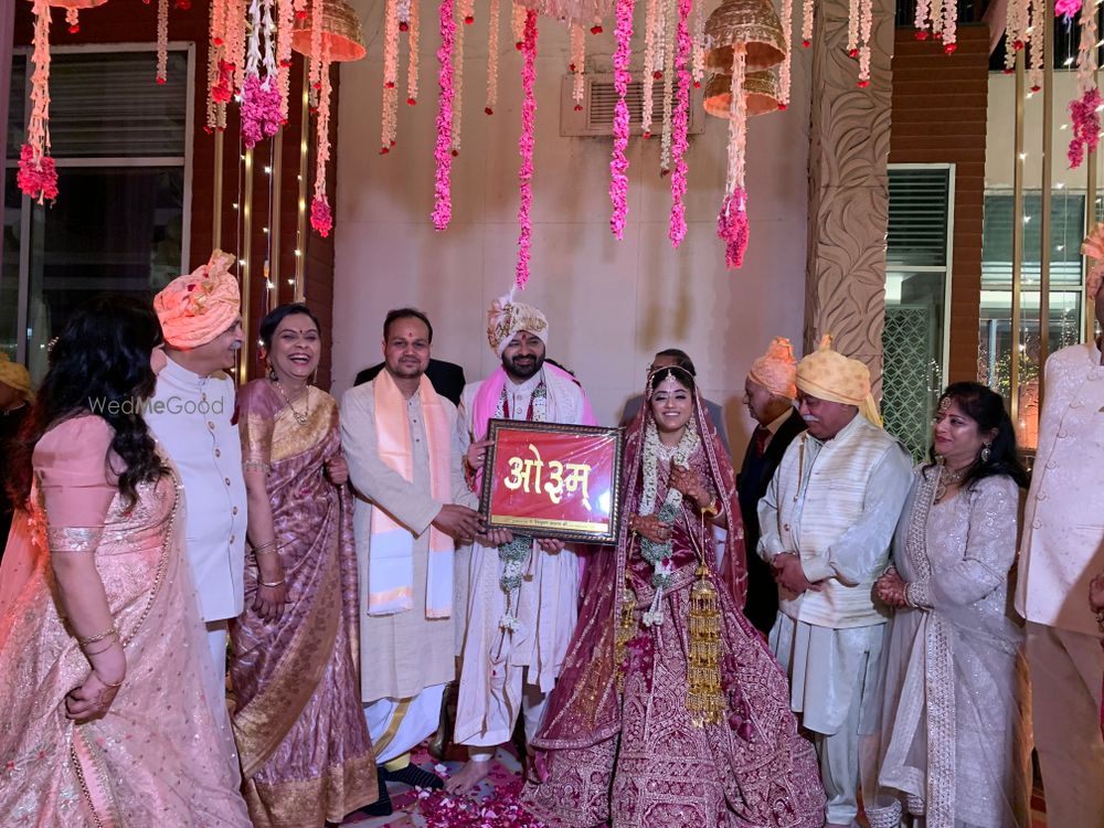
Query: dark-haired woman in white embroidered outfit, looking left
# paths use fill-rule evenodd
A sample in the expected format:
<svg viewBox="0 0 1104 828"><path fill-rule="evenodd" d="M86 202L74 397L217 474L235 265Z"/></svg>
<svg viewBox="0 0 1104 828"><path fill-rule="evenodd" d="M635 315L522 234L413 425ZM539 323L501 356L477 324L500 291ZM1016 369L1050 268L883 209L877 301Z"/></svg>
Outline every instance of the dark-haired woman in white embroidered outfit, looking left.
<svg viewBox="0 0 1104 828"><path fill-rule="evenodd" d="M944 461L916 468L895 569L877 586L898 609L867 814L871 828L895 828L902 809L927 828L1026 828L1029 694L1008 573L1027 477L1002 402L981 385L949 386L934 432Z"/></svg>

